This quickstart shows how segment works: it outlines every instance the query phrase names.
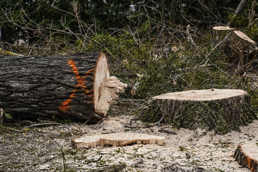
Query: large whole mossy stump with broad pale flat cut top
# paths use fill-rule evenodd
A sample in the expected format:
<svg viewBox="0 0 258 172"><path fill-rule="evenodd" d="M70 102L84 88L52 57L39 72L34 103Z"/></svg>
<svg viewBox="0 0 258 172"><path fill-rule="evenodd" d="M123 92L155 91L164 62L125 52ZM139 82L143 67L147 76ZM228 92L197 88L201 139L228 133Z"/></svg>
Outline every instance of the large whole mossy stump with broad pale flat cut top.
<svg viewBox="0 0 258 172"><path fill-rule="evenodd" d="M151 98L141 113L144 122L165 123L191 130L226 134L258 119L250 96L243 90L210 89L167 93Z"/></svg>

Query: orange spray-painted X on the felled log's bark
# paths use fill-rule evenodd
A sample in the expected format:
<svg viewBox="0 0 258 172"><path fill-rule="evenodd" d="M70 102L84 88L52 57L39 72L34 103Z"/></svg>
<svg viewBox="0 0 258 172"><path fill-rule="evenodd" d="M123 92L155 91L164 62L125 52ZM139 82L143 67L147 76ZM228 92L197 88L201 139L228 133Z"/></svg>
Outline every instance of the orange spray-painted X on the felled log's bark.
<svg viewBox="0 0 258 172"><path fill-rule="evenodd" d="M73 90L73 93L70 95L70 97L69 97L66 101L64 101L64 102L61 104L61 106L59 106L59 110L60 110L60 111L63 111L63 112L66 112L66 111L70 108L70 106L69 106L68 104L74 99L74 97L75 97L75 95L76 95L76 91L78 90L79 87L81 87L82 90L83 90L85 93L90 93L90 91L88 91L88 90L86 89L86 86L85 86L85 84L84 84L84 80L85 80L86 77L89 76L89 74L90 74L92 71L94 71L94 69L88 70L88 71L86 72L86 74L85 74L83 77L81 77L80 74L79 74L79 71L78 71L77 67L75 66L75 61L72 60L72 59L70 59L70 60L68 61L68 64L71 66L72 70L74 71L74 75L75 75L75 78L76 78L78 84L75 86L76 89Z"/></svg>

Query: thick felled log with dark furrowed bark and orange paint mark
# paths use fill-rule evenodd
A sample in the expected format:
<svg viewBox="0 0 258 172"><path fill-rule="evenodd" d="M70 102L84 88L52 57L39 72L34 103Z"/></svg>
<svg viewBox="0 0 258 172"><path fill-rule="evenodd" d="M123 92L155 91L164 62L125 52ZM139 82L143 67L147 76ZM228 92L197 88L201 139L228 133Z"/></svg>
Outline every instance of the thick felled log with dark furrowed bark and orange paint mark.
<svg viewBox="0 0 258 172"><path fill-rule="evenodd" d="M56 116L96 123L126 87L109 76L101 52L0 57L0 64L0 108L14 119Z"/></svg>

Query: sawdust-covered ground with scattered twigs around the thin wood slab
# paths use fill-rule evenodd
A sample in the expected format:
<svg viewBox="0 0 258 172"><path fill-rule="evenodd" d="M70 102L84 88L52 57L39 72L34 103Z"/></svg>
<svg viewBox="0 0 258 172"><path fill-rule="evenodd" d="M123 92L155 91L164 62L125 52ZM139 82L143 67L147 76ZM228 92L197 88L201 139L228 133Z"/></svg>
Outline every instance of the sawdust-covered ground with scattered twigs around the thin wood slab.
<svg viewBox="0 0 258 172"><path fill-rule="evenodd" d="M248 172L232 157L238 144L258 143L258 121L241 127L241 132L226 135L197 133L169 125L125 128L132 116L107 117L95 125L65 123L75 137L124 132L164 136L163 146L133 144L124 147L75 149L71 134L63 126L29 128L15 133L2 127L0 132L0 171L175 171L175 172ZM140 121L133 121L139 125ZM5 124L5 126L8 126ZM13 124L10 127L15 127ZM16 126L22 129L24 126ZM174 134L160 133L165 128ZM194 137L198 135L198 137ZM253 149L258 149L253 147ZM170 167L167 167L169 166ZM163 169L164 168L164 169Z"/></svg>

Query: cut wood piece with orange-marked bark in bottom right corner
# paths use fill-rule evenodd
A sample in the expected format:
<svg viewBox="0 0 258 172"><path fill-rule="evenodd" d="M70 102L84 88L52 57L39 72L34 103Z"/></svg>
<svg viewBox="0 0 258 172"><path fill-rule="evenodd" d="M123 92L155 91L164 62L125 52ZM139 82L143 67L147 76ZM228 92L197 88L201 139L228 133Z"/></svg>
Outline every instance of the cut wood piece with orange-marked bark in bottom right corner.
<svg viewBox="0 0 258 172"><path fill-rule="evenodd" d="M242 167L258 172L258 145L256 143L246 142L238 145L233 157Z"/></svg>

